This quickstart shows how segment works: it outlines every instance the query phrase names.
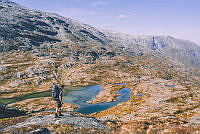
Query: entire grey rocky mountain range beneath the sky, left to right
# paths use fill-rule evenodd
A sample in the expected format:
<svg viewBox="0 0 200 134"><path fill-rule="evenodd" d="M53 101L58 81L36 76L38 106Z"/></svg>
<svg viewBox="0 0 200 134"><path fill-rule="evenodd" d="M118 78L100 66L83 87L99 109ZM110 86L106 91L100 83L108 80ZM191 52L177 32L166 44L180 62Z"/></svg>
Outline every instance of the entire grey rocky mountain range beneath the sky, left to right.
<svg viewBox="0 0 200 134"><path fill-rule="evenodd" d="M200 67L200 47L191 41L171 36L131 36L98 30L57 14L25 8L9 0L0 0L0 52L29 51L44 44L58 42L70 42L78 47L87 44L82 51L88 51L88 47L95 48L96 45L99 46L97 49L106 46L106 49L115 51L116 54L156 54ZM113 52L111 54L114 56Z"/></svg>

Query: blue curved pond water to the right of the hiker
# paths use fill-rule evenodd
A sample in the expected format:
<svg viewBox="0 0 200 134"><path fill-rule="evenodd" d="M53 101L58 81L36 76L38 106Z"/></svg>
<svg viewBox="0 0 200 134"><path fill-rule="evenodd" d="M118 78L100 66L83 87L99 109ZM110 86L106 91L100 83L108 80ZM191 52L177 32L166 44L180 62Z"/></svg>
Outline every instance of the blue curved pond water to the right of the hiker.
<svg viewBox="0 0 200 134"><path fill-rule="evenodd" d="M79 107L76 112L83 114L91 114L106 110L110 107L117 105L120 102L126 102L130 97L130 90L123 88L117 92L120 96L114 102L103 102L99 104L88 104L87 101L93 100L95 96L101 91L101 87L91 86L83 89L82 91L73 91L63 97L64 102L75 104Z"/></svg>

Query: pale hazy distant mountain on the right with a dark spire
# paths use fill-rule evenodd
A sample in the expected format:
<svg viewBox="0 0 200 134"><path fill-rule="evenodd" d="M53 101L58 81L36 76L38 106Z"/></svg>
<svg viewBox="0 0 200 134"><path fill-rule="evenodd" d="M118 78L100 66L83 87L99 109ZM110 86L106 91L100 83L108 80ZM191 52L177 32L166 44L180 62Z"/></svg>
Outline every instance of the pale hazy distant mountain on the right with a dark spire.
<svg viewBox="0 0 200 134"><path fill-rule="evenodd" d="M171 36L132 36L103 30L113 41L118 42L128 54L142 55L157 53L167 56L186 65L200 67L200 47L188 40L176 39Z"/></svg>

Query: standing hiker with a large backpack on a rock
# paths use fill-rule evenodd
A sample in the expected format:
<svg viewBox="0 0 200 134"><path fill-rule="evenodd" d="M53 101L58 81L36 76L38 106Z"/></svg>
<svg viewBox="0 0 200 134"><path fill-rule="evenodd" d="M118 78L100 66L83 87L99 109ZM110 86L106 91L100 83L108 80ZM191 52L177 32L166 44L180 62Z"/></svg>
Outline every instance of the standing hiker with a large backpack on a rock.
<svg viewBox="0 0 200 134"><path fill-rule="evenodd" d="M56 104L56 113L55 118L60 118L60 116L63 116L61 114L61 107L62 107L62 93L63 93L64 85L61 85L59 88L56 83L52 85L52 97Z"/></svg>

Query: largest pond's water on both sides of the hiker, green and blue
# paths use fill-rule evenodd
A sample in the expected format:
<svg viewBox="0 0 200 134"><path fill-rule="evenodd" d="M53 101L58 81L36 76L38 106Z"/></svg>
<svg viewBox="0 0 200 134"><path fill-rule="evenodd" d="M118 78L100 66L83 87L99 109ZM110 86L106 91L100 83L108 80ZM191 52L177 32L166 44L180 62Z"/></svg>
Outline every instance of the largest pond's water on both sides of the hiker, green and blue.
<svg viewBox="0 0 200 134"><path fill-rule="evenodd" d="M122 85L123 83L118 83ZM125 84L124 84L125 85ZM116 101L103 102L99 104L88 104L87 101L95 99L96 95L101 91L101 85L88 86L88 87L67 87L63 92L63 101L74 104L79 108L76 112L83 114L91 114L106 110L110 107L117 105L120 102L126 102L130 98L129 88L123 88L117 92L120 96L117 97ZM51 90L45 92L31 93L24 96L13 97L13 98L0 98L0 102L10 104L18 101L23 101L31 98L50 97Z"/></svg>

